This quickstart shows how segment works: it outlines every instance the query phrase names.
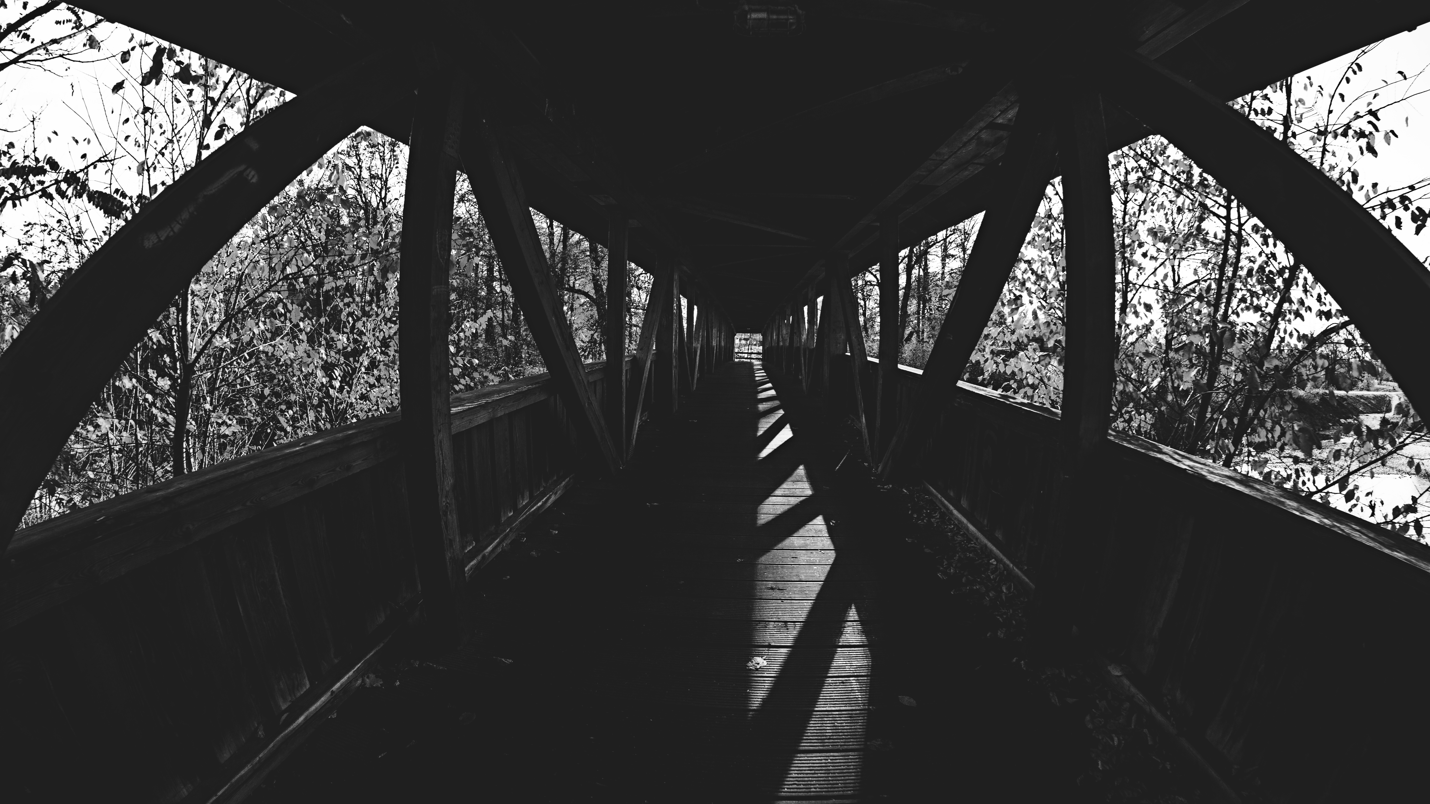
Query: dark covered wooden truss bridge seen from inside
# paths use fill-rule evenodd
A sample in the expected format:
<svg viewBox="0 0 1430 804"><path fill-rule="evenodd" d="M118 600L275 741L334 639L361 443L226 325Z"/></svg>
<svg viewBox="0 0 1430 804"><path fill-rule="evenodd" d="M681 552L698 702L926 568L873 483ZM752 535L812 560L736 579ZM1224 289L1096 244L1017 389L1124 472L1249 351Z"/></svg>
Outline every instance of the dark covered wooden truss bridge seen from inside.
<svg viewBox="0 0 1430 804"><path fill-rule="evenodd" d="M6 800L243 798L385 650L460 674L478 625L515 634L531 670L458 684L489 707L468 714L522 728L443 737L466 748L368 793L1072 798L1057 718L974 673L859 467L927 488L1012 567L1040 643L1101 667L1208 797L1420 784L1430 550L1108 433L1105 156L1157 133L1193 157L1430 410L1430 273L1224 104L1430 20L1423 1L80 4L296 97L149 203L0 356ZM150 323L359 126L410 144L400 417L14 531ZM1061 417L958 383L1054 176ZM549 373L450 396L458 180ZM654 276L638 354L579 361L531 208L609 246L611 321L626 260ZM892 310L899 248L980 211L927 368L899 367L894 314L865 356L849 271L882 264ZM762 354L736 360L736 333ZM592 558L529 573L508 618L475 623L503 583L483 567L553 503Z"/></svg>

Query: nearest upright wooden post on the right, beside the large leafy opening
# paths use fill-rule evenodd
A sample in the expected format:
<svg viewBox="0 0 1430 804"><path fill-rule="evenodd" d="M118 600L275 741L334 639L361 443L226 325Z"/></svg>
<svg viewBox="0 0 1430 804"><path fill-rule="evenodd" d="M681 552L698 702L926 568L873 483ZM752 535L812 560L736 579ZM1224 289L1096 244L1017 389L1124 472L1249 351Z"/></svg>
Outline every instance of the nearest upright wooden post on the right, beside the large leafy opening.
<svg viewBox="0 0 1430 804"><path fill-rule="evenodd" d="M1058 520L1038 567L1034 614L1052 644L1087 623L1103 553L1095 483L1103 477L1113 407L1114 316L1113 196L1107 176L1103 100L1075 87L1058 120L1067 228L1067 351L1062 368L1062 478Z"/></svg>

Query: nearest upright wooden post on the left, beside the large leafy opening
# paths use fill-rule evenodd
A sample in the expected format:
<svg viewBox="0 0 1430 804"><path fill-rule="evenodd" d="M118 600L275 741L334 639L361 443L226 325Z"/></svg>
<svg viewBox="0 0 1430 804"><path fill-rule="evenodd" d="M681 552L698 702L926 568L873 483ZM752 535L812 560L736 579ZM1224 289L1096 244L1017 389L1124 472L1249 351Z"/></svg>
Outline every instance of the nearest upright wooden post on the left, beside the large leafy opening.
<svg viewBox="0 0 1430 804"><path fill-rule="evenodd" d="M448 270L452 204L462 147L462 86L430 76L412 116L398 278L398 370L402 466L408 487L422 607L430 634L459 644L468 634L462 534L452 487L452 403L448 354Z"/></svg>

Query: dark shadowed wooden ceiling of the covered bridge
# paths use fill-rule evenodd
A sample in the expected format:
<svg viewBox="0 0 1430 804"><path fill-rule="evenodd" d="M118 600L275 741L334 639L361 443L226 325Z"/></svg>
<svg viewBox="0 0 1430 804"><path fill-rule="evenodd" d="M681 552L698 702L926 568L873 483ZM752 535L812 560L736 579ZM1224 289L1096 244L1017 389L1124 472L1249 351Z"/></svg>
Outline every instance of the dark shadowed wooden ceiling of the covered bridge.
<svg viewBox="0 0 1430 804"><path fill-rule="evenodd" d="M1017 86L1068 80L1081 53L1137 49L1230 100L1430 21L1423 0L1336 19L1291 0L799 0L801 33L752 37L731 0L80 4L292 91L373 50L438 49L470 70L532 207L601 240L618 204L632 258L668 256L744 331L831 250L874 263L878 220L909 244L980 211ZM403 110L372 124L406 140ZM1114 147L1145 134L1110 121Z"/></svg>

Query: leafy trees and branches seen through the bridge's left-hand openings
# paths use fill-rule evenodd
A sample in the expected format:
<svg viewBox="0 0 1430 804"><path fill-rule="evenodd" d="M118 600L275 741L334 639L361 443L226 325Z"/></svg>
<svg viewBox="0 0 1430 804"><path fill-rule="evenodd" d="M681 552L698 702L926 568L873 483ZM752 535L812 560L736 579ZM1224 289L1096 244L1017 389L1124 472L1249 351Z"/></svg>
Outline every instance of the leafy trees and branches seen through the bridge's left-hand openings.
<svg viewBox="0 0 1430 804"><path fill-rule="evenodd" d="M106 60L106 79L72 104L87 134L72 137L87 149L76 167L47 166L59 164L41 151L57 131L31 130L11 146L17 164L40 160L49 173L14 171L4 190L13 211L0 218L0 348L149 199L286 99L223 64L114 30L106 41L127 41L90 49ZM129 354L26 524L395 410L405 170L402 143L360 130L279 194ZM601 360L603 250L539 214L536 224L581 354ZM649 278L629 271L633 350ZM453 391L543 370L465 181L450 286Z"/></svg>

